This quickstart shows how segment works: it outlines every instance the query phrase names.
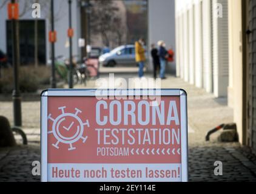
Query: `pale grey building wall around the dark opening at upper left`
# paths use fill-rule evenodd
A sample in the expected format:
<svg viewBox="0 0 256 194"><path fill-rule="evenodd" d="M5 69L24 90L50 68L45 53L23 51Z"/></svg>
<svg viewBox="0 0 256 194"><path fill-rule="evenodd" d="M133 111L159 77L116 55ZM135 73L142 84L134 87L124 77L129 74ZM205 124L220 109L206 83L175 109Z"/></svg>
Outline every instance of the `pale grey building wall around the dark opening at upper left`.
<svg viewBox="0 0 256 194"><path fill-rule="evenodd" d="M44 58L40 63L45 64L50 59L50 44L48 44L48 32L50 31L50 1L38 1L41 4L41 17L38 18L40 26L38 27L39 40L42 46L39 47L39 55ZM8 55L12 52L12 41L10 41L11 28L8 28L7 4L0 9L0 49ZM55 56L63 55L69 57L69 44L67 37L67 28L69 28L69 6L67 1L55 0L55 30L57 32L57 41L55 44ZM33 51L35 50L34 43L34 28L35 18L32 16L32 4L27 0L19 1L19 42L21 52L21 64L30 64L34 62ZM79 5L78 1L72 1L72 27L74 29L73 36L73 55L79 55L78 39L80 37L79 28ZM22 53L24 52L24 53ZM29 59L24 59L24 55L29 56ZM24 62L23 62L24 61Z"/></svg>

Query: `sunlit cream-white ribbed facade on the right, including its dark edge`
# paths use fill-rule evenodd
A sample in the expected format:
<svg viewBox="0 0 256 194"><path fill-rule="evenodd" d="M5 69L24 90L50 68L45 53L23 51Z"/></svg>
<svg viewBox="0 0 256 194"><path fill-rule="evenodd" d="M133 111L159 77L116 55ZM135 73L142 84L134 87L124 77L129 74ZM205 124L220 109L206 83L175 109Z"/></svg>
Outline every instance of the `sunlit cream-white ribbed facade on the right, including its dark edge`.
<svg viewBox="0 0 256 194"><path fill-rule="evenodd" d="M175 3L177 76L227 98L240 143L256 151L256 2Z"/></svg>

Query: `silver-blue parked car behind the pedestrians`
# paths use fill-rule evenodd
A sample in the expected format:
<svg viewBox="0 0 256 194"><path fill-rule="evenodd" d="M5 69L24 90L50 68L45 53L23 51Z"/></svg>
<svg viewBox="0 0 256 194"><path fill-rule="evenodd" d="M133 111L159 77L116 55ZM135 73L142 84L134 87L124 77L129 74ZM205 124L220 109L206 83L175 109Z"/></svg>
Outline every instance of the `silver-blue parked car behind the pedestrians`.
<svg viewBox="0 0 256 194"><path fill-rule="evenodd" d="M110 53L99 56L99 64L105 67L115 67L116 65L136 67L135 46L121 45Z"/></svg>

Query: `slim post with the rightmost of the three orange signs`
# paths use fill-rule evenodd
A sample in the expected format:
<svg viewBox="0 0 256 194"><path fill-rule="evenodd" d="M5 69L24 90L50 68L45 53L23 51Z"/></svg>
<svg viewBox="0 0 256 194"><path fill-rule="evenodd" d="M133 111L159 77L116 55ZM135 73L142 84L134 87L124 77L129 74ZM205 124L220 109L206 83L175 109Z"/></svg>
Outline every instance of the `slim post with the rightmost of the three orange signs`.
<svg viewBox="0 0 256 194"><path fill-rule="evenodd" d="M69 88L73 89L73 62L72 62L72 12L71 12L72 1L69 0Z"/></svg>

